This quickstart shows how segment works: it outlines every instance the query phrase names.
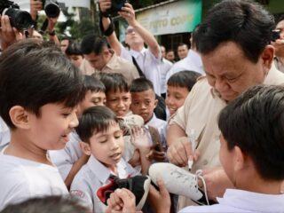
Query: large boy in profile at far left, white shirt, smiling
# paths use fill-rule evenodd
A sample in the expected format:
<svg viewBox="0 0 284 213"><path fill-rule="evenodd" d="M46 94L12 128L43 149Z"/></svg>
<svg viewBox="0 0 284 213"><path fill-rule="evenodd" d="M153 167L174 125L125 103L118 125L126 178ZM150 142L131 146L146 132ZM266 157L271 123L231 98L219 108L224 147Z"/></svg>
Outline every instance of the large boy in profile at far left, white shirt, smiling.
<svg viewBox="0 0 284 213"><path fill-rule="evenodd" d="M31 197L65 194L47 150L63 148L78 124L83 76L51 43L28 39L0 58L0 115L11 141L0 154L0 209Z"/></svg>

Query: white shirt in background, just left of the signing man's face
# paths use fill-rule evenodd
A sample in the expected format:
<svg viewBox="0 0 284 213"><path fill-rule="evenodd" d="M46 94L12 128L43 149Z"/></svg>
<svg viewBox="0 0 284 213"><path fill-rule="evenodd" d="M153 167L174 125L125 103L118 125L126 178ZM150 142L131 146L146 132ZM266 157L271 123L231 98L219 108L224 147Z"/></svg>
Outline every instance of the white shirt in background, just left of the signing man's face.
<svg viewBox="0 0 284 213"><path fill-rule="evenodd" d="M166 76L166 83L168 82L171 75L174 75L180 71L189 70L204 74L203 64L201 56L193 50L189 50L185 59L181 59L175 63Z"/></svg>

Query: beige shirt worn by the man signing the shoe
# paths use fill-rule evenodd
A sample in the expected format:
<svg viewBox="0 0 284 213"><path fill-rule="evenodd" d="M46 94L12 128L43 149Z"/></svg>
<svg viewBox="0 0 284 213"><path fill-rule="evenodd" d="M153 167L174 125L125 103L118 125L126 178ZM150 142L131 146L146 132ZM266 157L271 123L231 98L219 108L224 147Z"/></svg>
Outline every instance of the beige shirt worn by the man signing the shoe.
<svg viewBox="0 0 284 213"><path fill-rule="evenodd" d="M280 83L284 83L284 74L272 65L264 84ZM193 163L193 172L220 166L220 130L217 126L217 115L225 106L225 100L219 98L204 76L194 85L185 99L184 106L177 110L177 114L170 121L170 124L176 123L185 130L186 135L189 135L192 129L196 131L196 149L201 155Z"/></svg>

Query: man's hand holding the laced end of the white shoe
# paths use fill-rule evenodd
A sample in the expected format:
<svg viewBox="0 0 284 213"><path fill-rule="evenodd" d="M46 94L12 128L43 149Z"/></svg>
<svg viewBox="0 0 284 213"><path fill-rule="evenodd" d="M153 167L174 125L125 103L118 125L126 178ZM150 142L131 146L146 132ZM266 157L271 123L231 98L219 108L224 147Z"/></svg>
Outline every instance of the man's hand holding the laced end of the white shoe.
<svg viewBox="0 0 284 213"><path fill-rule="evenodd" d="M227 188L234 188L233 183L230 181L229 177L227 177L223 168L203 170L202 174L210 200L216 201L217 197L223 197ZM204 185L201 181L199 181L199 186L204 190Z"/></svg>

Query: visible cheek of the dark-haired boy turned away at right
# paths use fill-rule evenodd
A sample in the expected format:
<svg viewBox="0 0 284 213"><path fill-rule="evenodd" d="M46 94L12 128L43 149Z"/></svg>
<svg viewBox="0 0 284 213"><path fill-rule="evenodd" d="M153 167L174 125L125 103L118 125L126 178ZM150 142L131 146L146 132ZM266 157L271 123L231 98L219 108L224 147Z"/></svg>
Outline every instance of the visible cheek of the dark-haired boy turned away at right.
<svg viewBox="0 0 284 213"><path fill-rule="evenodd" d="M226 175L233 182L234 180L234 165L233 165L233 150L230 151L227 146L227 142L223 135L220 136L220 151L219 151L219 159L225 170Z"/></svg>

